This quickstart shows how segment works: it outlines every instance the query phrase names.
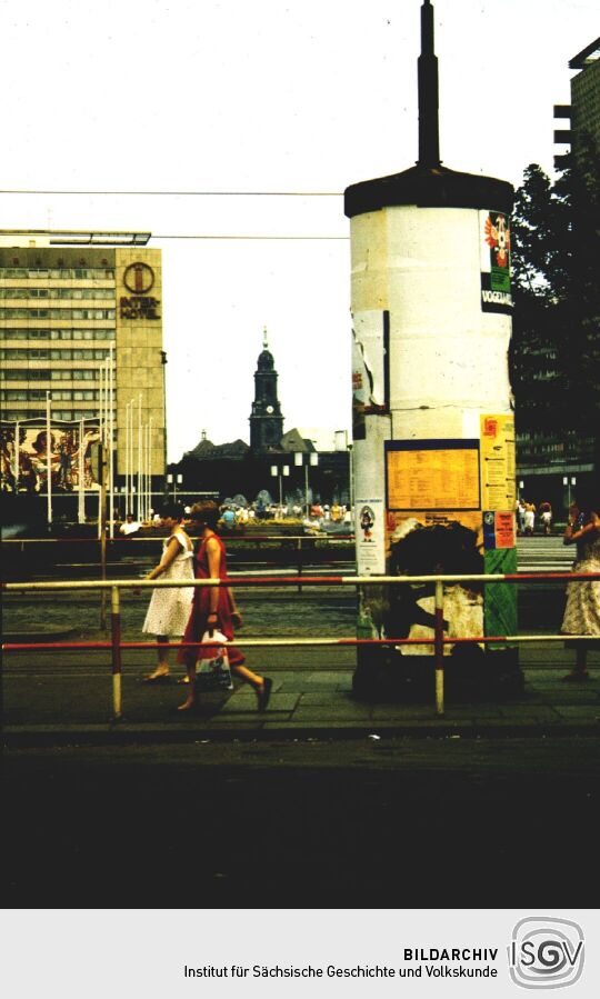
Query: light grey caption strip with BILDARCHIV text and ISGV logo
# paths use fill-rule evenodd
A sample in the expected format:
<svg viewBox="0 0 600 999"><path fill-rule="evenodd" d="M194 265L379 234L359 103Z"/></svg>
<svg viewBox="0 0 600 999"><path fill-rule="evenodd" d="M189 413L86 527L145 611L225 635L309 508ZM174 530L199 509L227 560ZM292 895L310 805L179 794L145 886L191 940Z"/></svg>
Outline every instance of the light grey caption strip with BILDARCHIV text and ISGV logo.
<svg viewBox="0 0 600 999"><path fill-rule="evenodd" d="M13 909L0 985L7 999L597 999L599 943L598 909L536 905Z"/></svg>

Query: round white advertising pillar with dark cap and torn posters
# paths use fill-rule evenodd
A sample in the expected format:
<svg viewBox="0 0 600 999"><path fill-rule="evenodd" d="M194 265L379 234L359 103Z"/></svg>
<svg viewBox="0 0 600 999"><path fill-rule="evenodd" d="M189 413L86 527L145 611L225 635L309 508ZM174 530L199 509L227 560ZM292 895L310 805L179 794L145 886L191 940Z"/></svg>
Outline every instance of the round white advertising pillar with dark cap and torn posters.
<svg viewBox="0 0 600 999"><path fill-rule="evenodd" d="M359 575L513 572L512 188L417 167L346 191ZM447 638L514 635L516 589L444 588ZM432 682L429 586L364 587L357 692ZM520 685L509 642L444 643L448 686Z"/></svg>

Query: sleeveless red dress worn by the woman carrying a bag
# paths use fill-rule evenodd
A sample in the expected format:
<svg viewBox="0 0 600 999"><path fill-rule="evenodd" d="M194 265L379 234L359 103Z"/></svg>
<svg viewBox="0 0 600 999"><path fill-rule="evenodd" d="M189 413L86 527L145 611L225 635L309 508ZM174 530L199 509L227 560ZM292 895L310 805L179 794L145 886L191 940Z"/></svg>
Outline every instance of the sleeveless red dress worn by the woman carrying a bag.
<svg viewBox="0 0 600 999"><path fill-rule="evenodd" d="M218 542L219 548L221 549L219 578L227 579L226 547L218 535L210 535L200 543L198 555L196 556L196 579L210 579L207 543L212 538ZM211 589L211 587L194 587L191 615L182 641L200 641L204 632L208 631ZM221 631L229 641L232 641L234 638L233 623L231 621L232 606L229 589L227 587L219 587L217 613L219 616L219 631ZM242 666L246 662L246 657L242 656L240 650L234 646L228 645L227 651L229 653L229 665L231 667ZM180 649L178 662L188 665L209 656L210 650L206 646L200 646L198 649Z"/></svg>

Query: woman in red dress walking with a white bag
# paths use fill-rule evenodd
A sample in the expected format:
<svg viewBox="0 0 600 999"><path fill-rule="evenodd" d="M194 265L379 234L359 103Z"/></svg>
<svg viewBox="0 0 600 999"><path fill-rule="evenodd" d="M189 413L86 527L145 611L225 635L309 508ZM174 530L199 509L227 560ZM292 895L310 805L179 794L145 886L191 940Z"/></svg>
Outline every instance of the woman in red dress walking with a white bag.
<svg viewBox="0 0 600 999"><path fill-rule="evenodd" d="M216 533L219 520L219 507L213 502L196 503L191 510L191 519L198 526L200 547L196 557L197 579L227 579L226 547ZM218 629L228 641L233 639L233 625L241 628L241 615L229 587L196 587L193 602L183 636L184 642L200 641L204 632ZM234 646L228 645L231 672L250 683L258 697L258 709L264 711L271 696L273 681L268 677L259 677L244 666L246 659ZM180 711L188 711L196 705L196 663L203 656L202 647L181 649L179 662L184 663L188 671L188 697L179 706Z"/></svg>

